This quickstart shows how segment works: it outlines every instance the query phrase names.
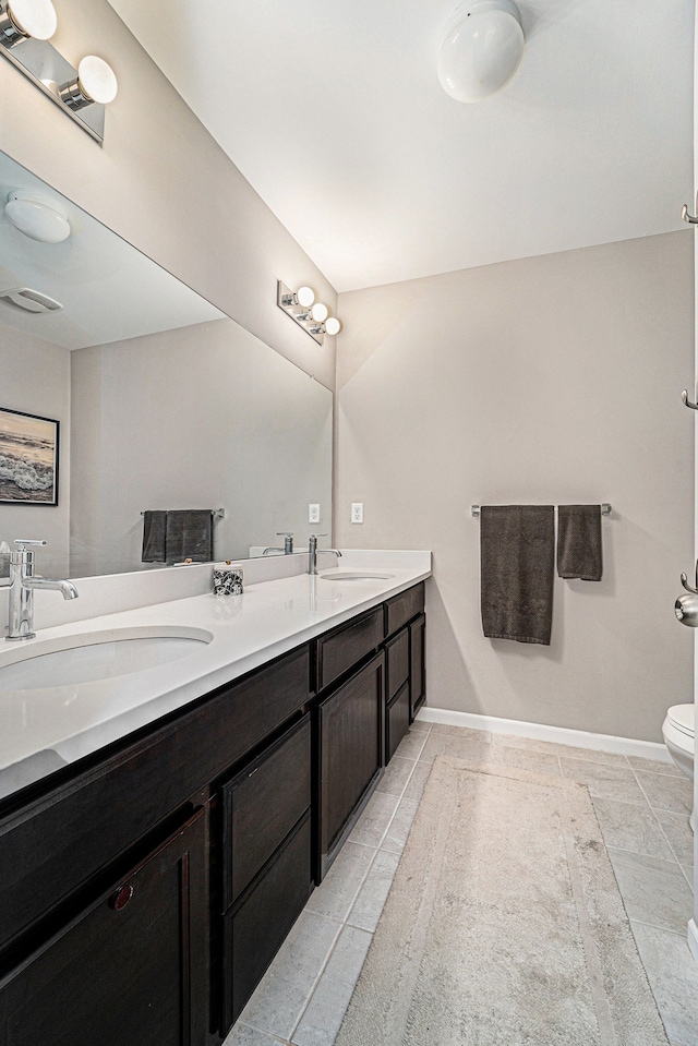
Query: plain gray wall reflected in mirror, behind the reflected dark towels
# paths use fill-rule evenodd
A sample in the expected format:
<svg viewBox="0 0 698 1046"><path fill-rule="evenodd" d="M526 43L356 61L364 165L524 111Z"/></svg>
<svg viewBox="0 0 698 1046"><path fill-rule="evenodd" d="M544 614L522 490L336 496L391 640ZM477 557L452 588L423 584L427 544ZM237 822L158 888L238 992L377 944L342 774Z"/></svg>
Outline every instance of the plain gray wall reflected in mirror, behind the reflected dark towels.
<svg viewBox="0 0 698 1046"><path fill-rule="evenodd" d="M224 507L218 560L278 545L280 530L306 548L310 502L329 529L333 395L238 324L79 349L71 363L73 577L143 568L146 508Z"/></svg>

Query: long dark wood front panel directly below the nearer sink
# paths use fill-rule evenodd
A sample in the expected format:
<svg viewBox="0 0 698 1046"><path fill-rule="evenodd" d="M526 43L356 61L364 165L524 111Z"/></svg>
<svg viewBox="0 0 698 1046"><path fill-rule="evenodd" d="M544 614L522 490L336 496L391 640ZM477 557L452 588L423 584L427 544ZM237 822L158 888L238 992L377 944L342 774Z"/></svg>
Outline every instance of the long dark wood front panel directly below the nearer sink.
<svg viewBox="0 0 698 1046"><path fill-rule="evenodd" d="M309 680L301 647L0 820L0 947L280 726Z"/></svg>

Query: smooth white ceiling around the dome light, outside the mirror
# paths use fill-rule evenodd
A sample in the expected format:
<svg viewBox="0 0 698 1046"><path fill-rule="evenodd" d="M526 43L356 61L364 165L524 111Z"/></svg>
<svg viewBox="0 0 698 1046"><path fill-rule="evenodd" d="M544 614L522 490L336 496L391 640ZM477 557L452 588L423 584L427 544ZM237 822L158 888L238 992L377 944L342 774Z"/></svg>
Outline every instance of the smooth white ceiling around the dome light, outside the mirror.
<svg viewBox="0 0 698 1046"><path fill-rule="evenodd" d="M436 80L458 0L110 2L339 291L685 228L693 0L520 0L479 105Z"/></svg>

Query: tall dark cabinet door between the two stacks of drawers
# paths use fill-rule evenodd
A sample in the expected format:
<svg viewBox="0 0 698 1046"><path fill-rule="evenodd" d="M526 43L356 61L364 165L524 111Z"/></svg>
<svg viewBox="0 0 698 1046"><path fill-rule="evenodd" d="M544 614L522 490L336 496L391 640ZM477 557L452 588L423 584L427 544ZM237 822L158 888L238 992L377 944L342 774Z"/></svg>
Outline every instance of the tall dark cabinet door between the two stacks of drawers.
<svg viewBox="0 0 698 1046"><path fill-rule="evenodd" d="M384 664L381 652L317 706L318 881L381 776Z"/></svg>

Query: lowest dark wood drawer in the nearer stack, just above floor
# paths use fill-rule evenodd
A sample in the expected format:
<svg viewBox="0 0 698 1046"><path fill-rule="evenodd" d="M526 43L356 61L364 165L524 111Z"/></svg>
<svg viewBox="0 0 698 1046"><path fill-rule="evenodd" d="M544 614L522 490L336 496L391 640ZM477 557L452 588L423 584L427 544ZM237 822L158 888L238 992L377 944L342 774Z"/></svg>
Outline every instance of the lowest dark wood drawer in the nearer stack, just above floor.
<svg viewBox="0 0 698 1046"><path fill-rule="evenodd" d="M224 919L224 1035L264 976L312 888L309 814Z"/></svg>

